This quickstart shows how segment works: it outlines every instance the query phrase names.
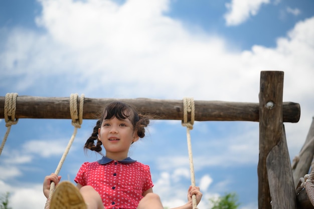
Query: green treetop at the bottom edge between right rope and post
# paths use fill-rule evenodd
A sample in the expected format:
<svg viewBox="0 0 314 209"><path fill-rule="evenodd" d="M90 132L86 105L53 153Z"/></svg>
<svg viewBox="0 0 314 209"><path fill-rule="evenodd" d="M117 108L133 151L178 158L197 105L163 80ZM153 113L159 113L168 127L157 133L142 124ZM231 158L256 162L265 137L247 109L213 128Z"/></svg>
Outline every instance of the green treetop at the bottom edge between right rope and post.
<svg viewBox="0 0 314 209"><path fill-rule="evenodd" d="M237 209L240 203L238 203L238 196L236 193L226 193L224 196L209 199L213 206L211 209Z"/></svg>

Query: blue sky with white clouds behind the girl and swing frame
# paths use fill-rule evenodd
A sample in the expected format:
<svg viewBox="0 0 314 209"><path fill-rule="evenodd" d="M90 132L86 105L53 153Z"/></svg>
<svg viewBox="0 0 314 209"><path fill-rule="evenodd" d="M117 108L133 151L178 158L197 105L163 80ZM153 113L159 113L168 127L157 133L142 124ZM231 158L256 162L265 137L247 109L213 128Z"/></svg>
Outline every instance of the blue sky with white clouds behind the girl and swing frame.
<svg viewBox="0 0 314 209"><path fill-rule="evenodd" d="M313 1L1 1L0 95L258 102L260 71L284 71L283 101L301 106L285 123L290 158L314 115ZM82 149L95 125L84 120L60 172L73 181L99 159ZM13 208L43 208L73 133L71 120L21 119L0 156L0 193ZM4 119L0 133L5 134ZM237 192L257 208L258 123L196 122L191 131L196 184L208 198ZM130 157L150 165L165 206L186 201L190 185L186 128L151 121Z"/></svg>

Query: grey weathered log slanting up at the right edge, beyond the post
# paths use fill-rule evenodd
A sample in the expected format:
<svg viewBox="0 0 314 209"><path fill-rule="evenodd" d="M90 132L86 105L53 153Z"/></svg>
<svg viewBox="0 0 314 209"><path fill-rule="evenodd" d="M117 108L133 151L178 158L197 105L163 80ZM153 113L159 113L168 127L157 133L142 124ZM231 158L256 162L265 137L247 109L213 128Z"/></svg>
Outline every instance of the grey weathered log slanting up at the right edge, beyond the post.
<svg viewBox="0 0 314 209"><path fill-rule="evenodd" d="M314 117L307 133L304 145L302 146L299 156L296 156L295 167L293 168L294 185L296 186L299 179L309 172L309 167L314 155Z"/></svg>

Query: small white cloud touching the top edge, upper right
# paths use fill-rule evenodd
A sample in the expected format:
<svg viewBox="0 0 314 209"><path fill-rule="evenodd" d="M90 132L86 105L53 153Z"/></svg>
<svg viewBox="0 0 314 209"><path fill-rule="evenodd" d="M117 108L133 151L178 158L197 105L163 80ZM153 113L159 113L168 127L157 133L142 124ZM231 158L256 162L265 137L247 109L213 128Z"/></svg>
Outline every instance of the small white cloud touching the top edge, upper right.
<svg viewBox="0 0 314 209"><path fill-rule="evenodd" d="M228 12L224 15L227 26L237 26L245 22L250 16L257 15L263 4L269 4L269 0L231 0L226 3Z"/></svg>

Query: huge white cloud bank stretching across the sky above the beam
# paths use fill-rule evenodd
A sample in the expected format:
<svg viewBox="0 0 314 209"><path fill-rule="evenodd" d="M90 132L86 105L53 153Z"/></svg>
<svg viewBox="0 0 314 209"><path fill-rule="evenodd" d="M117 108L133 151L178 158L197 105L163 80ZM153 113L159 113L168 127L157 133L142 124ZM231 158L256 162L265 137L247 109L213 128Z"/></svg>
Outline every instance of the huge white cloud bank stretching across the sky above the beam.
<svg viewBox="0 0 314 209"><path fill-rule="evenodd" d="M109 6L96 4L97 1L42 2L44 12L38 19L46 27L47 34L13 30L8 36L7 50L0 55L1 69L9 69L8 72L16 76L27 76L23 82L17 82L20 90L33 88L34 83L43 85L46 79L56 80L57 76L55 87L62 86L61 77L66 80L63 82L70 81L69 90L72 84L83 83L73 88L89 97L177 99L193 96L195 99L257 102L259 72L266 69L285 71L285 83L288 84L285 95L289 92L291 96L301 96L295 91L310 89L304 87L310 85L310 76L304 75L311 73L312 67L309 59L312 53L309 47L311 19L304 21L304 27L298 27L301 23L296 25L291 34L297 33L297 36L278 39L274 49L254 46L249 51L230 52L225 40L201 32L192 35L179 21L161 13L155 12L153 21L133 20L124 7L135 8L132 4L137 2L128 1L126 6L109 1L106 1ZM162 3L160 11L167 7L167 2ZM158 9L144 5L145 8L134 9L134 14ZM73 12L64 14L68 10ZM88 18L77 21L82 18L80 14L86 14ZM96 17L93 14L97 14ZM64 16L67 18L62 19ZM93 24L99 27L81 31ZM305 78L304 82L293 79L296 68L301 70L297 74L300 79ZM180 79L174 79L178 75ZM119 85L113 78L118 78ZM1 85L7 85L6 82ZM302 89L290 88L295 83ZM111 88L112 85L115 88ZM108 88L111 91L106 91Z"/></svg>

